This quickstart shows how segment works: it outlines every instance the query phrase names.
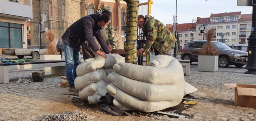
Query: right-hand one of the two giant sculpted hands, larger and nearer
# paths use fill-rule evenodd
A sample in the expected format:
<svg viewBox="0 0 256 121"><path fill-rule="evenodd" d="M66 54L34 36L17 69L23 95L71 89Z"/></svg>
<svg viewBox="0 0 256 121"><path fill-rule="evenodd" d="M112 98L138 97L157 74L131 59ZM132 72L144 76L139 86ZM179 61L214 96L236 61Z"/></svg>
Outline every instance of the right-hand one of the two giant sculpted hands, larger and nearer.
<svg viewBox="0 0 256 121"><path fill-rule="evenodd" d="M171 56L158 55L149 66L117 63L106 87L123 110L152 112L178 105L184 95L197 91L186 83L182 65ZM189 89L186 89L189 88Z"/></svg>

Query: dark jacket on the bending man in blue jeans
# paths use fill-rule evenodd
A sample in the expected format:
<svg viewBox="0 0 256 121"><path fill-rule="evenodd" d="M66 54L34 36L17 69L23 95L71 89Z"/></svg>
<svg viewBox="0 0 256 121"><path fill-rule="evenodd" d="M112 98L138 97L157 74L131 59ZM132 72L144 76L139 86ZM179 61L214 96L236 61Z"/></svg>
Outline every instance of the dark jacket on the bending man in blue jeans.
<svg viewBox="0 0 256 121"><path fill-rule="evenodd" d="M104 52L107 54L110 53L108 45L100 31L101 28L98 27L99 18L100 16L97 14L91 14L80 18L68 27L66 32L62 35L62 40L64 40L66 45L74 48L75 50L78 50L80 45L87 40L92 50L96 52L99 50L99 47L94 40L95 36Z"/></svg>

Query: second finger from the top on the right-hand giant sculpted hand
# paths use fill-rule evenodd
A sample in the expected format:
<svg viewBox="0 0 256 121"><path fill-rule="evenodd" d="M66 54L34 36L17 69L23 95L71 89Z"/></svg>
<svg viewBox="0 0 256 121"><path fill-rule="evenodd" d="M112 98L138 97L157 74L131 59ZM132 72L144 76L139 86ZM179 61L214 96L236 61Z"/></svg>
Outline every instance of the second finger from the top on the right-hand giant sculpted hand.
<svg viewBox="0 0 256 121"><path fill-rule="evenodd" d="M185 90L185 81L182 79L178 79L179 81L172 85L154 85L115 72L108 75L108 80L116 87L144 101L181 101Z"/></svg>

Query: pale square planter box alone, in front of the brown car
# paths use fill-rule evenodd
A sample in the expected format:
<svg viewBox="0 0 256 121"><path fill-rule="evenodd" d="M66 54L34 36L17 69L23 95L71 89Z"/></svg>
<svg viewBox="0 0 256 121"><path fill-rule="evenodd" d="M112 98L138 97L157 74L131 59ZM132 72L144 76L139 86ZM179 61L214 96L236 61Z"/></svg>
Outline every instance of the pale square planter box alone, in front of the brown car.
<svg viewBox="0 0 256 121"><path fill-rule="evenodd" d="M219 56L198 56L198 71L218 71Z"/></svg>

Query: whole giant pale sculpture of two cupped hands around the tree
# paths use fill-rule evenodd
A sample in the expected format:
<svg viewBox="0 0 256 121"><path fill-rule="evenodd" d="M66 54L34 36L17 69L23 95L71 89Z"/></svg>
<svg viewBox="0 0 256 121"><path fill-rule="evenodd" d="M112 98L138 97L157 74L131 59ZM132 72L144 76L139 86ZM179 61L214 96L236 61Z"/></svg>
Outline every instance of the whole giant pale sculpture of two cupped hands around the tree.
<svg viewBox="0 0 256 121"><path fill-rule="evenodd" d="M90 104L108 92L116 107L143 112L176 106L184 95L197 91L185 82L182 65L175 58L158 55L148 65L124 63L119 55L96 56L78 65L75 86L80 98Z"/></svg>

